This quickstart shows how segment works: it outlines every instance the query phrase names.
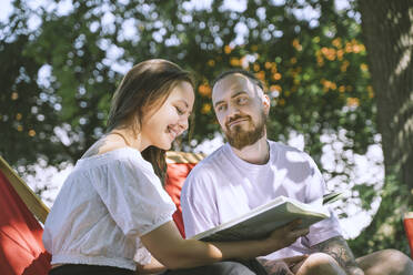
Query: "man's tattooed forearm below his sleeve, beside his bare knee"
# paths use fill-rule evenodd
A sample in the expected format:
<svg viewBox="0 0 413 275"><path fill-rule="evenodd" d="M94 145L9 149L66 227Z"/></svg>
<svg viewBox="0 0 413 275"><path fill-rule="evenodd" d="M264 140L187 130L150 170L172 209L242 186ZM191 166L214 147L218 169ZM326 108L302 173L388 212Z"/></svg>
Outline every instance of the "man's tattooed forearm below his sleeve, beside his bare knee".
<svg viewBox="0 0 413 275"><path fill-rule="evenodd" d="M311 247L311 252L321 252L332 256L343 269L351 275L363 275L364 272L357 266L354 255L347 242L342 236L329 238Z"/></svg>

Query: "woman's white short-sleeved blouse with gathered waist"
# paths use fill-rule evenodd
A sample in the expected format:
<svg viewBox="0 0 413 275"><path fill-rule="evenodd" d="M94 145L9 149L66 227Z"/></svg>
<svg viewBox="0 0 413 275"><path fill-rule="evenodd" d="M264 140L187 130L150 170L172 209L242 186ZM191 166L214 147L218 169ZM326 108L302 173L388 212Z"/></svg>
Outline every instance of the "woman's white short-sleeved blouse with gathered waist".
<svg viewBox="0 0 413 275"><path fill-rule="evenodd" d="M132 147L79 160L44 224L52 264L135 269L150 263L140 236L172 221L175 205Z"/></svg>

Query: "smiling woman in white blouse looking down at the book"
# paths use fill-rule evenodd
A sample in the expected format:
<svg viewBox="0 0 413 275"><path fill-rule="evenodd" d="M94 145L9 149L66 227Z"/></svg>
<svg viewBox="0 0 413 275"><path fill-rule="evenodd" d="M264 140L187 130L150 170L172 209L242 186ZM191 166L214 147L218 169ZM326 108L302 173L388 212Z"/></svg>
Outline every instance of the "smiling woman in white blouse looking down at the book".
<svg viewBox="0 0 413 275"><path fill-rule="evenodd" d="M293 223L260 241L181 237L172 222L175 206L161 181L165 150L188 129L193 102L189 73L172 62L148 60L127 73L113 96L108 133L77 162L46 221L51 275L133 274L137 267L154 273L249 259L308 233ZM226 273L219 264L209 268ZM210 273L202 268L197 274L202 272Z"/></svg>

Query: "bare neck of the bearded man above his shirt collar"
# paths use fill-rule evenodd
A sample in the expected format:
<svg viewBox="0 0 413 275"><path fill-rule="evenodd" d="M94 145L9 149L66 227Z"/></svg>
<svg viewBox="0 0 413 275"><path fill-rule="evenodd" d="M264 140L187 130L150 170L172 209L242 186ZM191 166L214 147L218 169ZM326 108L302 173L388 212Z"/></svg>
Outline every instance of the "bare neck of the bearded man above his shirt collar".
<svg viewBox="0 0 413 275"><path fill-rule="evenodd" d="M254 144L248 145L241 150L231 146L232 151L243 161L252 164L265 164L270 160L270 145L264 134Z"/></svg>

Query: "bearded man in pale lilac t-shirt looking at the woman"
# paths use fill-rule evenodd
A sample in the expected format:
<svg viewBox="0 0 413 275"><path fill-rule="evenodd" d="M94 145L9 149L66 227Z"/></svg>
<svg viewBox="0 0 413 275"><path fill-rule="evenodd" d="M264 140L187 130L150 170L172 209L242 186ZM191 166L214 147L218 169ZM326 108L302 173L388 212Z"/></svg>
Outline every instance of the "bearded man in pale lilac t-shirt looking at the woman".
<svg viewBox="0 0 413 275"><path fill-rule="evenodd" d="M228 143L201 161L185 181L181 205L187 237L279 195L321 204L325 184L313 160L266 139L270 99L253 74L242 70L221 74L212 88L212 103ZM399 251L355 259L334 214L260 262L269 274L413 274L412 261Z"/></svg>

